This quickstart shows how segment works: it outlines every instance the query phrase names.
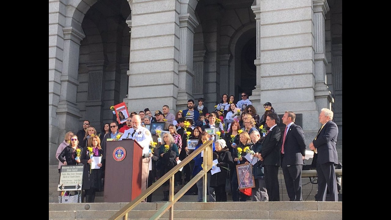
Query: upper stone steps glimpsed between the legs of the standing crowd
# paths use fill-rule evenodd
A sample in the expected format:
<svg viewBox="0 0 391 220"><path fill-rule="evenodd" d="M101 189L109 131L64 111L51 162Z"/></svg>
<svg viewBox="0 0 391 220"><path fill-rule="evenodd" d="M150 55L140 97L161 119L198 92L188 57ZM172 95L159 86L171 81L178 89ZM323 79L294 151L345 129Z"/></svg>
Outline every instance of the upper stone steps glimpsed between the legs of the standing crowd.
<svg viewBox="0 0 391 220"><path fill-rule="evenodd" d="M57 165L49 166L49 203L55 202L58 203L58 194L57 185L59 180L59 173ZM313 179L312 179L313 180ZM303 177L302 179L302 189L303 189L303 200L306 201L315 201L315 195L317 193L317 184L309 183L310 179L308 177ZM285 187L284 177L282 175L282 170L279 170L278 174L278 183L280 185L280 200L289 201L287 195L287 190ZM342 193L342 187L341 187ZM160 202L163 198L163 192L161 189L156 190L152 194L152 202ZM228 201L232 201L232 196L228 194ZM104 202L103 192L97 192L95 197L95 202ZM197 195L184 195L178 202L197 202Z"/></svg>

